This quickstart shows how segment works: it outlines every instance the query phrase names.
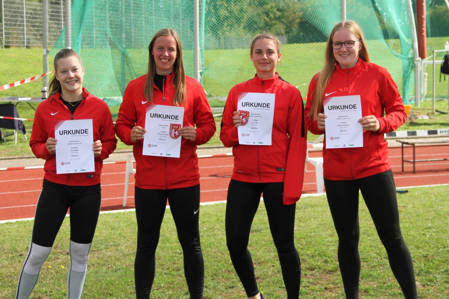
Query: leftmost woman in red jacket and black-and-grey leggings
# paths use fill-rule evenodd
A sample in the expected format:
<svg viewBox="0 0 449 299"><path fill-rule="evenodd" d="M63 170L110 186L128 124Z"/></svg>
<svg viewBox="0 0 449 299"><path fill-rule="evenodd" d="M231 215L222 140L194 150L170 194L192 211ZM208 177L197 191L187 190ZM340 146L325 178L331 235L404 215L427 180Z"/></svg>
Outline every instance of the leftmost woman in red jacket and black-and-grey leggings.
<svg viewBox="0 0 449 299"><path fill-rule="evenodd" d="M117 145L108 105L82 86L84 68L78 53L71 49L60 50L54 57L54 70L49 84L50 96L37 106L29 140L33 154L45 160L45 174L15 299L28 299L31 295L68 209L70 266L67 299L81 298L87 257L101 206L103 160ZM92 120L95 171L56 173L55 122L89 119Z"/></svg>

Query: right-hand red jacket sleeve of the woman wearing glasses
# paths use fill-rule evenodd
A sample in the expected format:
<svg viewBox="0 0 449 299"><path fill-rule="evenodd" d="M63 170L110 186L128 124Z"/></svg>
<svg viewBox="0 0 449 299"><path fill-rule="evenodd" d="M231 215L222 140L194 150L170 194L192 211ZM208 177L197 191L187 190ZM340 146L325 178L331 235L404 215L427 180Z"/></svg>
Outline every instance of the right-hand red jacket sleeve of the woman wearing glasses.
<svg viewBox="0 0 449 299"><path fill-rule="evenodd" d="M382 107L387 113L379 117L380 129L376 133L390 133L398 129L407 120L404 104L398 91L398 86L385 68L380 68L379 73L379 96Z"/></svg>

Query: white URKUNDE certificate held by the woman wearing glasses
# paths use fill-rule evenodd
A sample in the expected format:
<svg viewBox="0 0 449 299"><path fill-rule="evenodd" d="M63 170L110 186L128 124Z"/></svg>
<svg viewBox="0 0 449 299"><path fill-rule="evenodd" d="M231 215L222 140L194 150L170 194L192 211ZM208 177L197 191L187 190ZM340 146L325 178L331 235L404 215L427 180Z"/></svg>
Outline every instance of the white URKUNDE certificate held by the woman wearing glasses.
<svg viewBox="0 0 449 299"><path fill-rule="evenodd" d="M323 99L326 149L363 148L360 95Z"/></svg>

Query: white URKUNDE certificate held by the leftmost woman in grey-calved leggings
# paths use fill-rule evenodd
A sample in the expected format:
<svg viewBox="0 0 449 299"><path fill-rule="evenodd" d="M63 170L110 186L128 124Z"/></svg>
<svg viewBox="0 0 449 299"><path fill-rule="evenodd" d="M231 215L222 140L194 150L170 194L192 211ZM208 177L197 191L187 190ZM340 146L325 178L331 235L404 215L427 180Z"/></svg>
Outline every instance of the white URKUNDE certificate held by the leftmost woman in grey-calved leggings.
<svg viewBox="0 0 449 299"><path fill-rule="evenodd" d="M55 121L56 173L94 172L92 120Z"/></svg>

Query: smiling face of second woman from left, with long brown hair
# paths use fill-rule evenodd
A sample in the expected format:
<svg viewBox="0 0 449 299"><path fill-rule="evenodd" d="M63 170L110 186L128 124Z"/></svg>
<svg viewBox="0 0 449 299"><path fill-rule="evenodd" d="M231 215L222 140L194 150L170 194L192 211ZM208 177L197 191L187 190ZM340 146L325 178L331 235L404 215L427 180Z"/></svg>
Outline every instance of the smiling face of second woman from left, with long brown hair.
<svg viewBox="0 0 449 299"><path fill-rule="evenodd" d="M154 42L151 54L156 64L156 74L170 75L178 55L176 39L173 36L160 36Z"/></svg>

